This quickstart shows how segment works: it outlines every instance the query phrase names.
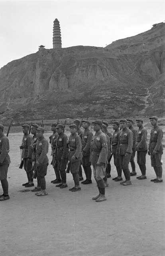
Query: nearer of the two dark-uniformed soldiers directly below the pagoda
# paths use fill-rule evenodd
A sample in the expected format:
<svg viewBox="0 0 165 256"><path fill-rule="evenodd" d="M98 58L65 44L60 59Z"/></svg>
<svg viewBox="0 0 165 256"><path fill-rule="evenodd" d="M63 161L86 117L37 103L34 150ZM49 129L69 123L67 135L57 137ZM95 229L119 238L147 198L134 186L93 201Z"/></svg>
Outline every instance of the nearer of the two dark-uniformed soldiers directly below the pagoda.
<svg viewBox="0 0 165 256"><path fill-rule="evenodd" d="M67 135L64 134L64 126L62 124L58 124L56 126L58 137L56 140L56 150L55 150L55 158L57 161L57 168L61 174L62 182L56 187L59 188L67 188L67 175L65 169L67 168L68 161L68 148L67 148Z"/></svg>

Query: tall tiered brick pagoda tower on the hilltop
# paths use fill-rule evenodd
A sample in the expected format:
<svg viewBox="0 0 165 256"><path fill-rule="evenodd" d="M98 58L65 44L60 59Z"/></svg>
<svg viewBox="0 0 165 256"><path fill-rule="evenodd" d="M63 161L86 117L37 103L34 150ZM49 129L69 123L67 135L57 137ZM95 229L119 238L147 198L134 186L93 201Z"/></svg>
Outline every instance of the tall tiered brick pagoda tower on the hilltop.
<svg viewBox="0 0 165 256"><path fill-rule="evenodd" d="M61 48L61 30L57 19L53 23L53 48Z"/></svg>

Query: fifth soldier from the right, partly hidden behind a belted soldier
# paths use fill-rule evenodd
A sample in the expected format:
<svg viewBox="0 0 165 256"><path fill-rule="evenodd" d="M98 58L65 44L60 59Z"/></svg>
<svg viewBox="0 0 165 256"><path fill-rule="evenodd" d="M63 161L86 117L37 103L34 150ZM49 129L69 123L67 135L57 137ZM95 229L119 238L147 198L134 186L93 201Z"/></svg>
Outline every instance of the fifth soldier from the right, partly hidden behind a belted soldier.
<svg viewBox="0 0 165 256"><path fill-rule="evenodd" d="M114 165L116 166L116 170L118 173L118 176L113 178L114 181L121 181L122 180L122 168L120 166L120 156L117 152L118 148L118 140L119 140L119 130L120 123L118 121L112 122L112 128L114 130L114 133L112 135L112 154L114 156Z"/></svg>

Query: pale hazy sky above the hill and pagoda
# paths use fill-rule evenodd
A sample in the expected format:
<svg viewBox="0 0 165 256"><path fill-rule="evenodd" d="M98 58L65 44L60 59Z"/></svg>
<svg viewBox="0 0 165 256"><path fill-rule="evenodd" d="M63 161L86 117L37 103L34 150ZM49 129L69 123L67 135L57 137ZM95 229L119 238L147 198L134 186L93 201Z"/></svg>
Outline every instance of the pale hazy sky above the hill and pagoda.
<svg viewBox="0 0 165 256"><path fill-rule="evenodd" d="M0 0L0 68L53 48L53 21L60 22L62 47L105 47L165 22L164 0Z"/></svg>

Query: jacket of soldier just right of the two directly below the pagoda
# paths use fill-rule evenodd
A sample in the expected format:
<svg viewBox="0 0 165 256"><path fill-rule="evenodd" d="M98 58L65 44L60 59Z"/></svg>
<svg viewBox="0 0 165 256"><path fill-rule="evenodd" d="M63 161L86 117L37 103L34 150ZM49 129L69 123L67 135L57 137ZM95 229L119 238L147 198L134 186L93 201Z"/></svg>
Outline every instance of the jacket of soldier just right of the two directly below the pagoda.
<svg viewBox="0 0 165 256"><path fill-rule="evenodd" d="M75 133L69 136L69 162L77 162L82 160L82 153L81 153L81 138L80 136ZM72 160L72 156L75 156L75 160Z"/></svg>

